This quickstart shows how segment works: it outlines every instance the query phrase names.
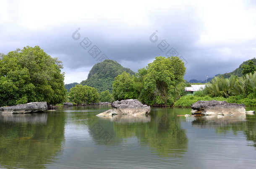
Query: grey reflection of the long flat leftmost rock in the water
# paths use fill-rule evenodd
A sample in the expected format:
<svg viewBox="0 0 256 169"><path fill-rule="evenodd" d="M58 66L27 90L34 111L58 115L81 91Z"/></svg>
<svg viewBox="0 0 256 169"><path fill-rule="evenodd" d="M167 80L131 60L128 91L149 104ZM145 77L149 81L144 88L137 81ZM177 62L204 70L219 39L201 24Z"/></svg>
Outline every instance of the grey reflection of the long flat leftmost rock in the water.
<svg viewBox="0 0 256 169"><path fill-rule="evenodd" d="M47 124L47 113L42 114L0 114L1 122Z"/></svg>

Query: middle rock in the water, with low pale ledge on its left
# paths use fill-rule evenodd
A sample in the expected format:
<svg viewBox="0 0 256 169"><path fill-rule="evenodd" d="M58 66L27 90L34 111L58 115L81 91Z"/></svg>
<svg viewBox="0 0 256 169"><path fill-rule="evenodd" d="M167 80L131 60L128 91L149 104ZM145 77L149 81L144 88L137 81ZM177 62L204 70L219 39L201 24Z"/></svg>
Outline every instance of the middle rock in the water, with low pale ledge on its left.
<svg viewBox="0 0 256 169"><path fill-rule="evenodd" d="M144 105L137 99L128 99L122 101L114 101L112 108L97 116L112 116L112 115L148 115L150 113L150 106Z"/></svg>

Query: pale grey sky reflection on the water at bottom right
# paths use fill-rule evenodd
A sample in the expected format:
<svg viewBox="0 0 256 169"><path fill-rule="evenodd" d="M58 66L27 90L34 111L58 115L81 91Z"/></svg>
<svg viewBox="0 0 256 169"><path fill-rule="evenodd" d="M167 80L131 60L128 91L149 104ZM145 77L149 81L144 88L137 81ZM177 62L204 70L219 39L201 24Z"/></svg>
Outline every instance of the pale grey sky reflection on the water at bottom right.
<svg viewBox="0 0 256 169"><path fill-rule="evenodd" d="M185 167L193 168L253 168L256 154L253 146L246 141L243 131L232 131L226 134L216 134L215 129L199 129L191 126L191 122L183 122L182 128L188 136L188 152L184 155L187 160Z"/></svg>

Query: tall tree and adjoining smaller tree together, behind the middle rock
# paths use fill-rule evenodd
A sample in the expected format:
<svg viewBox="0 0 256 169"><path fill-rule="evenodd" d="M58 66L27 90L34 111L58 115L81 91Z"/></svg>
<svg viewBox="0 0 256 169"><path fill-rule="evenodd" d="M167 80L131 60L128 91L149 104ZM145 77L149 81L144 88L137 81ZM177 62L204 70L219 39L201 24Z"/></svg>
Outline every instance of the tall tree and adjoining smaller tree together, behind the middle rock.
<svg viewBox="0 0 256 169"><path fill-rule="evenodd" d="M113 96L117 100L138 98L148 105L169 105L184 93L185 66L178 57L156 57L153 63L115 78Z"/></svg>

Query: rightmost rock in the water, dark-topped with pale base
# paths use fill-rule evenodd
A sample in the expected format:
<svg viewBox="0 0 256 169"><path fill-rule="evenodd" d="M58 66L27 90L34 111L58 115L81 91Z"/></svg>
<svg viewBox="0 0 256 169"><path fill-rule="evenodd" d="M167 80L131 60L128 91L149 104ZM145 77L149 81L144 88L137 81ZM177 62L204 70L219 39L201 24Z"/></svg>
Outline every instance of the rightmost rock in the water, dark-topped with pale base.
<svg viewBox="0 0 256 169"><path fill-rule="evenodd" d="M227 101L197 101L191 105L191 113L205 115L246 114L244 104L227 103Z"/></svg>

